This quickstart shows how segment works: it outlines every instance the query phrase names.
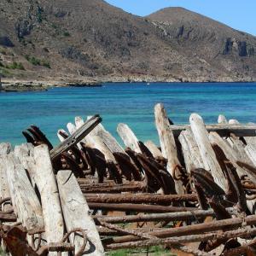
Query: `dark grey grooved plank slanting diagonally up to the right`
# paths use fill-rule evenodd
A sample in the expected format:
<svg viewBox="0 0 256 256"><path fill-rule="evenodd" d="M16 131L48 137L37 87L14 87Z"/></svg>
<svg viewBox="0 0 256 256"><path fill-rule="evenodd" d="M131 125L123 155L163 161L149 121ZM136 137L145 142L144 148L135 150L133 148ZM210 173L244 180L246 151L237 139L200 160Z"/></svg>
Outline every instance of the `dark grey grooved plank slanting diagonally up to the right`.
<svg viewBox="0 0 256 256"><path fill-rule="evenodd" d="M55 160L58 156L61 155L61 153L63 153L64 151L67 151L69 148L72 148L73 145L79 143L101 121L102 121L102 118L99 115L95 115L90 120L86 121L82 127L80 127L77 131L75 131L73 133L72 136L68 137L59 146L57 146L56 148L53 148L50 151L50 158L51 158L51 160Z"/></svg>

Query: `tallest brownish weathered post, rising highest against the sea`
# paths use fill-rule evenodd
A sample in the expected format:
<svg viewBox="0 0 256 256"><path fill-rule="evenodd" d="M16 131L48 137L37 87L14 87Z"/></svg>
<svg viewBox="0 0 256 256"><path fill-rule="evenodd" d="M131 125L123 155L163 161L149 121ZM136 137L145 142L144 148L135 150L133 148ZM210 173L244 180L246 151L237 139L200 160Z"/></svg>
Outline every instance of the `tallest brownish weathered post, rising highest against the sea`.
<svg viewBox="0 0 256 256"><path fill-rule="evenodd" d="M160 138L161 152L168 160L167 171L173 176L177 166L181 166L177 158L177 146L172 133L172 128L163 104L154 107L155 125ZM183 184L176 181L177 194L183 194Z"/></svg>

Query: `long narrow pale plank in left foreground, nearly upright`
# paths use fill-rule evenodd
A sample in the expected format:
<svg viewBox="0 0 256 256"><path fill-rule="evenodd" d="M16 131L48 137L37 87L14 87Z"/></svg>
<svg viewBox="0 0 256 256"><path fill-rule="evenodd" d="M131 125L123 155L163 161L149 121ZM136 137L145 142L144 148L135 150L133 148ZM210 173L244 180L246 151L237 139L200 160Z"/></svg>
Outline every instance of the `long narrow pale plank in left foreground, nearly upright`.
<svg viewBox="0 0 256 256"><path fill-rule="evenodd" d="M48 147L40 145L34 148L34 159L37 166L34 178L41 195L45 236L48 243L61 241L64 235L64 221ZM50 255L56 255L56 253L50 253Z"/></svg>

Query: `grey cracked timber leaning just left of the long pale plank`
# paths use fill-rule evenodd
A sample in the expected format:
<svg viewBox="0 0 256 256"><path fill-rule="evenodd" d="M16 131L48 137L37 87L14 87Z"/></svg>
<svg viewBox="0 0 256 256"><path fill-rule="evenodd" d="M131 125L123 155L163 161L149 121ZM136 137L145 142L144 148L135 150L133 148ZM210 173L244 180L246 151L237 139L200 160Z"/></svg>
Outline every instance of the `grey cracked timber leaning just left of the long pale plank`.
<svg viewBox="0 0 256 256"><path fill-rule="evenodd" d="M38 197L15 154L6 158L6 173L15 212L27 230L44 229L44 218Z"/></svg>

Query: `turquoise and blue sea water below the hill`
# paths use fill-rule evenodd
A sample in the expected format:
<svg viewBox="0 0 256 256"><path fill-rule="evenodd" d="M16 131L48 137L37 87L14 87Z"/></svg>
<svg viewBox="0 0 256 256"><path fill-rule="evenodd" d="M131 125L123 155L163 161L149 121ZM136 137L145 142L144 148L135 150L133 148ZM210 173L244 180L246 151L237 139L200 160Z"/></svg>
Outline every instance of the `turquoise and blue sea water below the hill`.
<svg viewBox="0 0 256 256"><path fill-rule="evenodd" d="M256 84L104 84L99 88L54 88L46 92L0 93L0 142L24 143L21 131L38 125L56 144L56 131L75 116L101 114L103 125L118 138L126 123L144 141L158 143L154 105L165 104L176 124L200 113L206 123L218 114L240 122L256 122Z"/></svg>

